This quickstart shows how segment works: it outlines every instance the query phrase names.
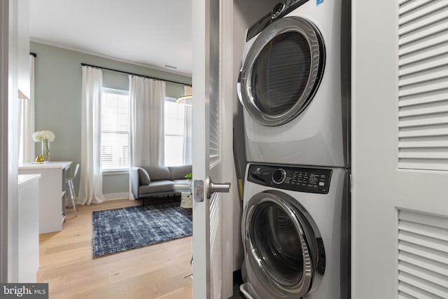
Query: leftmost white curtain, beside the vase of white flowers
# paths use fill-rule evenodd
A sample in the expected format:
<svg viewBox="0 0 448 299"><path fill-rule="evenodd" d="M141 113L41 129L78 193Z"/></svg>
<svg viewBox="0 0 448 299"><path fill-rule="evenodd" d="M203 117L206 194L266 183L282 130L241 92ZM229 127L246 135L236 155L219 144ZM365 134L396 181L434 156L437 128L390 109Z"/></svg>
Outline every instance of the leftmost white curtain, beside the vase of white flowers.
<svg viewBox="0 0 448 299"><path fill-rule="evenodd" d="M34 55L29 55L29 99L19 99L19 163L34 161Z"/></svg>

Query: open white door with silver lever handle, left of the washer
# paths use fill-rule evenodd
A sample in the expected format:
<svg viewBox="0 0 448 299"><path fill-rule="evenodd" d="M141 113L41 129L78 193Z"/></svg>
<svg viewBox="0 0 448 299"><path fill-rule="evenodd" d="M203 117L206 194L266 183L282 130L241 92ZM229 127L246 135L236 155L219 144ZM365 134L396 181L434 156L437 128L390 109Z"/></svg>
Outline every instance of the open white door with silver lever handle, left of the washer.
<svg viewBox="0 0 448 299"><path fill-rule="evenodd" d="M220 29L223 19L218 0L193 0L193 297L228 298L232 289L232 246L228 246L232 223L229 194L213 193L211 187L225 190L232 164L232 85L226 43L232 30ZM227 36L227 37L226 37ZM231 36L231 35L230 35ZM225 46L222 46L225 45ZM223 64L223 67L220 65ZM230 76L231 77L231 76ZM232 99L232 97L230 98ZM230 105L229 105L230 104ZM229 117L230 116L230 117ZM230 151L229 151L230 149ZM230 168L232 169L232 168ZM214 181L211 183L209 179ZM231 218L231 217L230 217ZM230 250L227 250L230 247Z"/></svg>

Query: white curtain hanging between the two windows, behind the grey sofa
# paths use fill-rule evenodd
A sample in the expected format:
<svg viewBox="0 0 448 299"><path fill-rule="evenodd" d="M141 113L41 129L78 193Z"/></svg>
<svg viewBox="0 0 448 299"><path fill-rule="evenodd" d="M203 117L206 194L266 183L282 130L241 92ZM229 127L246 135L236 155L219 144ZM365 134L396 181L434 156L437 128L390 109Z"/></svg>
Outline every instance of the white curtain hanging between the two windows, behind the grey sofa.
<svg viewBox="0 0 448 299"><path fill-rule="evenodd" d="M166 83L165 81L132 75L129 76L129 81L131 104L130 166L164 165ZM130 198L133 199L131 192Z"/></svg>

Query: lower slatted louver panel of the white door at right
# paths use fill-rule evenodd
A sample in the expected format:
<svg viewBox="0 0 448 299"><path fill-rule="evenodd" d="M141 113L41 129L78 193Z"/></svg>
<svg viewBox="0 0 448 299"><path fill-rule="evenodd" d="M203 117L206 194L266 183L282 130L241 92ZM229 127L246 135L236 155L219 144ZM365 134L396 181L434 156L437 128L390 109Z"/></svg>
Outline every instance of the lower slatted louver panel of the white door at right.
<svg viewBox="0 0 448 299"><path fill-rule="evenodd" d="M447 298L448 217L398 211L398 291L403 298Z"/></svg>

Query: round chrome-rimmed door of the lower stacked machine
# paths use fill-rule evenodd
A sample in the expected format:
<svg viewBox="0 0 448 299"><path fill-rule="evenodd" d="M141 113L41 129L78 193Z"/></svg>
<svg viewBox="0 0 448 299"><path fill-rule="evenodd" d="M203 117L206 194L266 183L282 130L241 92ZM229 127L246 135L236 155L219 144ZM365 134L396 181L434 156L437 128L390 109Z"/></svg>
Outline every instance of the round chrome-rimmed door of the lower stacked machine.
<svg viewBox="0 0 448 299"><path fill-rule="evenodd" d="M320 284L323 241L297 200L275 190L257 193L243 219L246 262L267 291L278 298L302 298Z"/></svg>

